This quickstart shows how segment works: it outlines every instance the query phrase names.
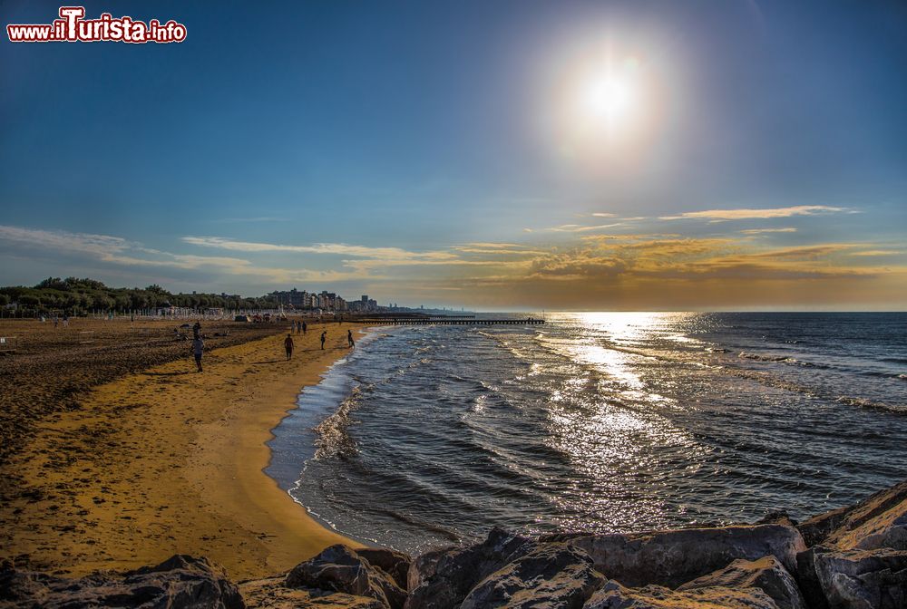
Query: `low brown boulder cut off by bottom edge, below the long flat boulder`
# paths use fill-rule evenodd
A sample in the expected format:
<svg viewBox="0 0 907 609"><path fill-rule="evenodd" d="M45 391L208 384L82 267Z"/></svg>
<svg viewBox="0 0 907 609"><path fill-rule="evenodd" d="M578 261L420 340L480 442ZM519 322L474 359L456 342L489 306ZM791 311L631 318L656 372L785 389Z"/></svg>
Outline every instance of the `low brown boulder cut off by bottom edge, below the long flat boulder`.
<svg viewBox="0 0 907 609"><path fill-rule="evenodd" d="M608 582L584 609L777 609L759 588L705 587L676 591L660 585L626 588Z"/></svg>

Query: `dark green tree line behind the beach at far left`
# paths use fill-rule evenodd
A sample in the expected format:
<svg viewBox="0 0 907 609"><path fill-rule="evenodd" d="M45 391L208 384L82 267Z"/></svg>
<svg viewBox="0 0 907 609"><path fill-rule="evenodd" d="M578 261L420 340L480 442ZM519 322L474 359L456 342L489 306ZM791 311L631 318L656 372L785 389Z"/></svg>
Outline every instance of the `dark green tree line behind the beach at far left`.
<svg viewBox="0 0 907 609"><path fill-rule="evenodd" d="M80 315L91 311L125 314L171 306L190 309L219 307L232 310L277 308L273 296L258 298L219 294L171 294L160 285L108 287L94 279L48 277L34 287L0 287L0 307L15 304L18 314Z"/></svg>

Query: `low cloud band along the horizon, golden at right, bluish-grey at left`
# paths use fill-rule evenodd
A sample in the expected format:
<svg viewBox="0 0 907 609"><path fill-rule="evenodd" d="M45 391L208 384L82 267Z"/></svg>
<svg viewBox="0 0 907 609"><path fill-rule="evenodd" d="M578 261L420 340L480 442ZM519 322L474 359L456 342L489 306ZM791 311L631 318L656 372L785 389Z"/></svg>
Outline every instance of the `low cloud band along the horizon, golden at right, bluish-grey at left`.
<svg viewBox="0 0 907 609"><path fill-rule="evenodd" d="M583 227L561 225L565 229ZM433 293L455 292L463 295L463 304L541 304L547 308L770 307L773 303L820 302L818 295L828 295L830 303L843 303L835 299L838 293L853 295L854 305L877 302L889 303L890 308L903 303L907 266L874 264L873 260L873 256L902 254L892 242L766 247L764 242L743 238L739 233L734 234L736 237L684 237L676 233L564 232L580 234L573 235L566 245L561 238L532 245L471 242L429 251L336 243L283 245L227 237L182 238L187 249L212 247L223 254L202 256L162 251L109 235L0 226L0 247L44 259L47 265L59 265L64 259L66 270L61 272L81 273L77 269L94 269L98 267L95 263L102 262L128 269L131 277L148 276L161 285L162 279L170 277L190 289L205 286L240 291L236 286L244 285L269 291L312 282L312 288L335 284L335 289L342 291L343 286L336 284L359 282L350 289L362 287L362 293L403 302L407 294L421 299ZM298 260L269 260L285 259L288 256L276 255L287 252L298 254L290 256ZM312 260L319 263L316 269L301 264ZM142 269L147 269L145 275Z"/></svg>

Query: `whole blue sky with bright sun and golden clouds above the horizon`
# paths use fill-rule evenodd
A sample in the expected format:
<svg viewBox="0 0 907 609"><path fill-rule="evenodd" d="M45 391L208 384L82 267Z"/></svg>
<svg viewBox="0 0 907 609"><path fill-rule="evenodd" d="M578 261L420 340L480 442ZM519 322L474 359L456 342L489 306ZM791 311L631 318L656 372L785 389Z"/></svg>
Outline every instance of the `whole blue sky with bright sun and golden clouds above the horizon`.
<svg viewBox="0 0 907 609"><path fill-rule="evenodd" d="M0 285L907 309L903 2L84 6L187 37L4 34Z"/></svg>

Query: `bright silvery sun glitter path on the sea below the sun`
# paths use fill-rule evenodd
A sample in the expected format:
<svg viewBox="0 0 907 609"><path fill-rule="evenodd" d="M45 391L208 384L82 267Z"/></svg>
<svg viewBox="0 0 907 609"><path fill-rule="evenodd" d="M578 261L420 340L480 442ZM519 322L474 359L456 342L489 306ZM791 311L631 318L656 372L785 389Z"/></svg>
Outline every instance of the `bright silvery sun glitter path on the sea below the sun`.
<svg viewBox="0 0 907 609"><path fill-rule="evenodd" d="M570 459L577 484L554 501L564 514L594 514L612 530L639 522L664 520L682 505L668 505L672 486L666 463L686 462L688 471L702 465L707 449L666 413L674 400L654 391L647 380L647 361L654 358L624 349L673 327L682 314L577 314L569 341L547 345L566 360L569 372L551 388L548 438L551 447ZM660 379L659 379L660 381ZM564 525L582 528L583 517Z"/></svg>

